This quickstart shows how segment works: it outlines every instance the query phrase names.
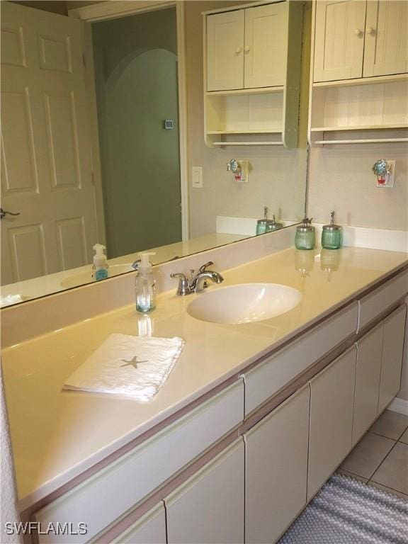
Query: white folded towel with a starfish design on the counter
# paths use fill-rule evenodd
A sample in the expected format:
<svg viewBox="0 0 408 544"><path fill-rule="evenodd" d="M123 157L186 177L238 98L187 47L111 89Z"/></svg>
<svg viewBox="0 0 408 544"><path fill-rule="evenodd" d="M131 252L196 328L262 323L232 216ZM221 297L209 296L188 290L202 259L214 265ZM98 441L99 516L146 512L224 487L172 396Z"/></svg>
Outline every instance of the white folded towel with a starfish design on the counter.
<svg viewBox="0 0 408 544"><path fill-rule="evenodd" d="M183 339L177 336L111 334L62 387L148 402L169 377L183 346Z"/></svg>

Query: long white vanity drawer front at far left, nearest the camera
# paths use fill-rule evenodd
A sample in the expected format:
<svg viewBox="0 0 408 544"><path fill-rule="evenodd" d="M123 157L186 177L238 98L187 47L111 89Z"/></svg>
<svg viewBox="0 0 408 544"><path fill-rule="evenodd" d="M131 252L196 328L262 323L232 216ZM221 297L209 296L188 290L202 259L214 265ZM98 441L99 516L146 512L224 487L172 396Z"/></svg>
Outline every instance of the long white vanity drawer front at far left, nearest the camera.
<svg viewBox="0 0 408 544"><path fill-rule="evenodd" d="M36 512L41 526L82 522L88 529L86 536L40 535L39 542L88 541L237 426L243 414L239 380Z"/></svg>

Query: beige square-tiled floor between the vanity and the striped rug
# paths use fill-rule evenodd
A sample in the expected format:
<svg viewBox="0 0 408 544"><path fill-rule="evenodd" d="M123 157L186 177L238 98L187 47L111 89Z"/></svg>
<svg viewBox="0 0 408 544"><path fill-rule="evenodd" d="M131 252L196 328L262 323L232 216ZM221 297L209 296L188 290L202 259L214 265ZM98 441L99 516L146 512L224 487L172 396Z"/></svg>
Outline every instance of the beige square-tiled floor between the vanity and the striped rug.
<svg viewBox="0 0 408 544"><path fill-rule="evenodd" d="M408 416L385 410L338 472L408 501Z"/></svg>

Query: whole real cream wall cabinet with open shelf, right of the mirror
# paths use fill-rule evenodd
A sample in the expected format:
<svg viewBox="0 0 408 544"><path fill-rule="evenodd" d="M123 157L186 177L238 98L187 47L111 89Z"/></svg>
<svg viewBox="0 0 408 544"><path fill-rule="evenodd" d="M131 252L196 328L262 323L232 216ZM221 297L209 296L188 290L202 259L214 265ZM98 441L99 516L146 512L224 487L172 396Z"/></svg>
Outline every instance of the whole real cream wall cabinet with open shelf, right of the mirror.
<svg viewBox="0 0 408 544"><path fill-rule="evenodd" d="M407 142L407 0L314 0L313 21L310 144Z"/></svg>

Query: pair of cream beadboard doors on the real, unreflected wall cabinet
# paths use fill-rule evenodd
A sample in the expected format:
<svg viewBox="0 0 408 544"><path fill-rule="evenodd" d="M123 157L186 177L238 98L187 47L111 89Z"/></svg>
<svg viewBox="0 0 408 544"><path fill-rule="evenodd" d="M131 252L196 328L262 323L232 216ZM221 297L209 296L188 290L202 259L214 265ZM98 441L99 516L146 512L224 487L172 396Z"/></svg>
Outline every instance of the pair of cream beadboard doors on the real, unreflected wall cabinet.
<svg viewBox="0 0 408 544"><path fill-rule="evenodd" d="M408 71L405 0L319 0L314 81Z"/></svg>

